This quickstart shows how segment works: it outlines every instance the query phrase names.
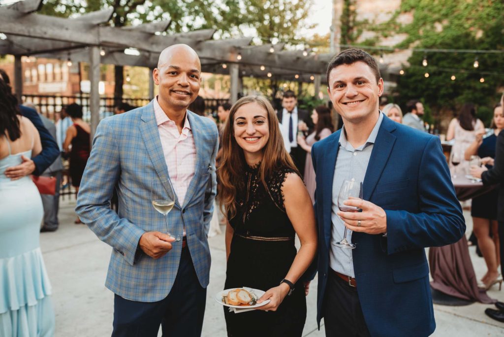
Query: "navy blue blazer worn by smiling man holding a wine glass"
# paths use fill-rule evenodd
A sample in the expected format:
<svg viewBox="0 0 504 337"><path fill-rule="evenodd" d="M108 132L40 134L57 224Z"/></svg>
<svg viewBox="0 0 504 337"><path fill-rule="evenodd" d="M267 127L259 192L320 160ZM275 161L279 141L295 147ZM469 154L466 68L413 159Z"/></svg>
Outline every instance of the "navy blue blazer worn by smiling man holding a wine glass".
<svg viewBox="0 0 504 337"><path fill-rule="evenodd" d="M340 133L311 149L317 174L319 325L322 317L331 315L323 312L323 299ZM352 234L357 292L369 332L387 337L429 335L435 322L424 248L457 242L466 228L439 138L384 117L369 158L363 198L385 209L388 235Z"/></svg>

